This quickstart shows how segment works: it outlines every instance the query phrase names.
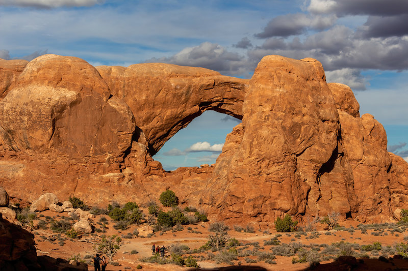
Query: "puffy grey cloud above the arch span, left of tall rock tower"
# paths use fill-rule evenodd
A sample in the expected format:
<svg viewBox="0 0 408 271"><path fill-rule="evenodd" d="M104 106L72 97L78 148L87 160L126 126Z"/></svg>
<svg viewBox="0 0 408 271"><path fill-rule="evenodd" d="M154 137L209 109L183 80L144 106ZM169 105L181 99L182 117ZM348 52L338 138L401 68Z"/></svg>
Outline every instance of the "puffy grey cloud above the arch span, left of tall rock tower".
<svg viewBox="0 0 408 271"><path fill-rule="evenodd" d="M247 73L245 57L230 52L225 47L210 42L187 47L170 57L151 58L146 62L162 62L181 66L202 67L221 74L242 75Z"/></svg>

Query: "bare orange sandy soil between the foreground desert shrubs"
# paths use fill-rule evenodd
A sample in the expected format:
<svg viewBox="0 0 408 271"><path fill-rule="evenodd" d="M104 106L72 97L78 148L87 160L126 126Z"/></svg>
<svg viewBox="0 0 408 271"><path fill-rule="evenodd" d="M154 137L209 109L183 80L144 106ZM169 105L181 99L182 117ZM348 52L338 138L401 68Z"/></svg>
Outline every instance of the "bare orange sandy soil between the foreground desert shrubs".
<svg viewBox="0 0 408 271"><path fill-rule="evenodd" d="M144 213L147 213L147 210L144 210ZM41 215L41 217L39 217ZM60 220L61 217L66 213L56 214L50 212L49 210L37 213L37 219L34 220L34 225L38 224L38 219L45 220L46 217L51 217L56 220ZM54 258L63 258L69 259L74 255L79 255L81 259L85 259L91 263L91 259L89 257L93 257L96 253L96 244L98 244L100 240L100 236L103 234L112 235L118 234L119 236L125 236L128 233L133 233L134 230L137 228L136 225L129 227L126 230L118 231L113 228L115 224L114 221L111 221L110 218L106 215L104 216L95 216L92 220L92 224L95 226L96 229L103 229L101 227L101 223L99 222L101 217L105 217L108 219L108 223L105 228L106 232L94 232L91 234L84 234L79 239L69 239L64 233L58 234L53 232L50 229L32 229L32 232L35 234L36 240L36 248L38 255L48 255ZM75 221L71 221L75 222ZM99 222L99 224L98 224ZM174 244L179 245L186 245L190 248L190 251L194 249L200 248L202 245L206 244L208 240L208 235L210 232L208 228L212 222L206 223L199 223L197 225L185 225L183 226L182 231L166 231L166 232L156 232L153 236L147 237L136 237L133 236L132 238L124 238L124 244L121 246L120 250L114 255L114 262L118 262L118 266L113 266L112 264L108 265L107 270L136 270L137 265L142 266L142 270L188 270L187 267L181 267L174 264L164 264L159 265L155 263L146 263L142 262L141 259L145 257L151 256L151 246L153 244L159 246L166 246L169 247ZM240 242L240 246L237 247L238 252L244 251L263 251L266 253L271 253L272 248L275 247L273 245L265 245L264 242L271 240L274 237L277 237L280 244L290 244L290 243L299 243L301 246L304 245L313 245L315 247L320 246L320 265L317 266L316 269L318 270L327 270L327 269L334 269L333 266L327 266L325 264L333 263L334 259L339 255L326 255L330 256L330 258L323 258L323 250L325 247L330 246L332 243L339 243L339 242L348 242L351 244L359 244L359 245L372 245L374 242L379 242L382 245L382 250L380 251L361 251L361 250L354 250L355 256L362 256L362 254L366 254L365 257L369 257L370 259L364 258L360 261L360 267L362 269L356 270L386 270L387 268L395 269L395 268L406 268L408 269L407 260L387 260L389 257L393 255L385 255L386 247L390 246L393 248L397 243L403 242L406 244L406 240L404 240L404 236L408 235L407 226L401 225L379 225L379 226L370 226L368 229L364 230L361 229L361 226L358 227L360 223L352 220L347 220L344 222L340 222L341 226L345 228L340 230L331 230L327 231L324 230L324 225L317 224L317 229L314 232L292 232L292 233L277 233L273 229L269 230L269 232L237 232L234 230L234 227L230 227L230 231L228 234L231 237L236 238ZM49 224L48 224L49 225ZM191 227L191 230L188 228ZM195 233L191 232L195 231ZM54 239L54 240L52 240ZM408 237L405 237L408 239ZM248 245L249 244L249 245ZM325 245L322 245L325 244ZM308 248L305 248L306 250ZM132 251L136 250L137 254L131 254ZM200 253L193 253L193 254L184 254L185 257L191 255L196 256L197 263L201 266L202 269L211 269L217 267L228 267L231 266L228 263L220 263L217 264L214 259L206 260L206 257L210 254L216 255L218 252L211 252L205 251ZM381 255L385 255L386 261L378 261L378 257ZM248 257L238 257L237 260L233 261L233 264L237 266L241 264L241 266L252 266L252 267L263 267L266 270L303 270L309 267L309 262L304 263L292 263L293 258L299 258L298 255L290 255L290 256L275 256L276 258L273 259L273 263L267 263L265 260L260 260L258 256L248 256ZM170 259L170 255L167 252L166 258ZM254 263L247 263L246 261L252 259ZM323 258L323 259L322 259ZM359 261L359 259L358 259ZM366 269L364 269L364 268ZM323 268L323 269L322 269ZM367 269L368 268L368 269ZM89 265L89 270L93 270L93 266Z"/></svg>

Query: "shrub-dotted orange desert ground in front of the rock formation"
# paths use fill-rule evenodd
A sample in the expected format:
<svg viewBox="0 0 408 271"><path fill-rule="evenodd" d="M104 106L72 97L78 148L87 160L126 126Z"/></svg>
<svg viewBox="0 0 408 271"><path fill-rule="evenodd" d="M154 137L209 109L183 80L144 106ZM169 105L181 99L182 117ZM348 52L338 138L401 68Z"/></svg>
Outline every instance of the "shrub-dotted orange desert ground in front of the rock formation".
<svg viewBox="0 0 408 271"><path fill-rule="evenodd" d="M160 204L160 203L159 203ZM137 224L117 228L118 222L112 220L103 208L91 208L95 213L88 221L91 233L78 233L68 237L66 229L53 227L56 221L68 227L79 220L68 213L55 213L51 210L35 212L24 227L35 235L38 255L53 258L77 260L88 264L93 270L93 257L103 235L117 235L122 241L120 248L110 260L107 270L191 270L181 266L180 258L191 256L201 269L230 270L394 270L408 268L408 225L406 224L361 224L347 219L327 230L322 223L303 223L294 232L277 232L274 228L260 230L251 225L228 225L225 246L206 246L215 221L195 222L188 225L156 228L153 233L143 234L141 227L147 225L147 206L139 206L146 216ZM185 206L179 206L183 210ZM162 207L164 211L170 207ZM95 212L97 210L97 212ZM27 212L27 211L26 211ZM105 212L107 210L105 209ZM184 212L186 216L188 212ZM23 213L21 213L23 214ZM29 213L26 213L29 214ZM32 213L31 213L32 214ZM120 224L120 223L119 223ZM116 228L114 226L116 225ZM146 235L146 236L143 236ZM152 257L151 247L165 246L164 260ZM105 254L102 254L105 255ZM353 256L355 262L346 264L336 261L339 256ZM402 255L395 256L394 255ZM107 255L105 255L108 257ZM179 260L177 260L177 258ZM343 257L344 258L344 257ZM340 258L341 259L341 258ZM351 258L353 261L353 258ZM349 260L349 259L348 259ZM348 260L345 260L346 262ZM176 264L179 262L179 265ZM331 265L330 265L331 264Z"/></svg>

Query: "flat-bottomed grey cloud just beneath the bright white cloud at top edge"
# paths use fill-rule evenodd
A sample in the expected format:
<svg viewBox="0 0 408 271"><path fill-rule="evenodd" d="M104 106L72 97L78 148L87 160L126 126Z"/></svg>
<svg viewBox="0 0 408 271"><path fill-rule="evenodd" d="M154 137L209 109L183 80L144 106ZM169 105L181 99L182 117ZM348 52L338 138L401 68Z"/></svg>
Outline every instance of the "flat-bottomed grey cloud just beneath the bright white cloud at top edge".
<svg viewBox="0 0 408 271"><path fill-rule="evenodd" d="M323 30L334 24L336 16L310 16L303 13L287 14L273 18L256 34L258 38L288 37L303 34L307 29Z"/></svg>

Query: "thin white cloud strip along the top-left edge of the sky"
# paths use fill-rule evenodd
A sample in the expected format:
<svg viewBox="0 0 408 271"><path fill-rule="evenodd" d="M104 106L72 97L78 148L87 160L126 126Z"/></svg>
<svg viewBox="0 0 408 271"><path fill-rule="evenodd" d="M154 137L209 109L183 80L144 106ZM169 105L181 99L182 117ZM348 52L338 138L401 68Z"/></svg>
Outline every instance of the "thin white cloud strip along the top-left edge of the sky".
<svg viewBox="0 0 408 271"><path fill-rule="evenodd" d="M90 7L103 3L102 0L0 0L1 6L59 8L59 7Z"/></svg>

